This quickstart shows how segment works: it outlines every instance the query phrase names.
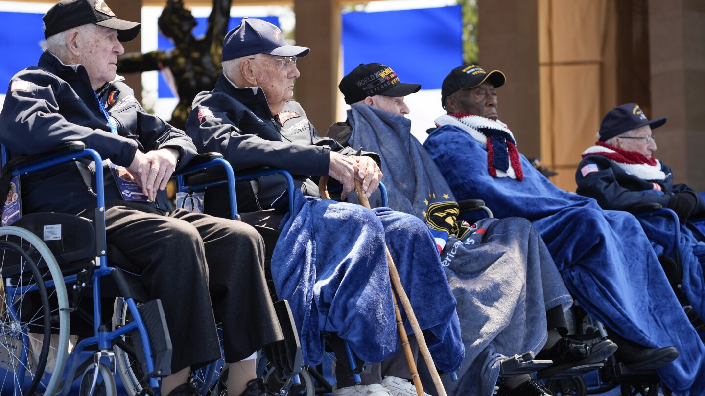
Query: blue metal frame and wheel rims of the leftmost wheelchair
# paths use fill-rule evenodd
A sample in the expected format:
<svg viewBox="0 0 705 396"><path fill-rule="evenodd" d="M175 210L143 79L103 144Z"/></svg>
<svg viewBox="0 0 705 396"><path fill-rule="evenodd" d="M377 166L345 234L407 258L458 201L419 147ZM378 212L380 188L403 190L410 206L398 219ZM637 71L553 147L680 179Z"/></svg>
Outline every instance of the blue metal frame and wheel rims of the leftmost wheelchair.
<svg viewBox="0 0 705 396"><path fill-rule="evenodd" d="M6 159L8 158L8 151L6 150L4 145L1 147L1 151L4 167ZM102 158L97 153L97 151L93 149L86 149L85 145L80 142L70 142L66 146L59 148L59 152L53 151L47 154L47 156L42 156L39 159L34 159L27 163L18 164L16 167L13 168L12 176L14 177L17 175L27 175L35 171L50 168L51 166L56 166L61 163L75 161L76 159L84 157L89 157L92 161L94 161L94 163L102 163ZM214 166L220 166L226 171L228 178L226 181L223 182L230 182L231 197L233 197L234 201L235 183L233 181L233 171L230 164L221 158L212 159L204 163L201 161L195 164L190 164L178 171L178 173L174 173L174 176L178 178L184 178L185 175L202 171L204 169L211 168ZM39 239L39 237L32 234L30 231L15 226L0 228L0 232L4 232L4 235L18 235L20 237L29 238L30 242L33 242L32 245L35 246L37 250L39 250L39 253L41 253L42 258L44 258L45 261L48 262L47 266L49 268L49 273L51 274L51 280L45 280L44 282L39 282L35 284L18 285L18 287L15 287L9 282L6 283L5 291L8 296L6 301L8 302L8 315L10 315L11 321L19 323L20 318L16 309L14 309L14 306L15 303L18 301L17 299L21 299L21 296L27 292L33 292L39 290L39 288L51 287L56 290L56 298L60 301L58 309L58 316L60 318L59 345L56 348L56 365L54 366L54 371L51 374L48 383L44 386L43 392L47 395L68 394L68 391L71 390L73 379L75 379L75 373L79 368L78 356L80 355L80 352L82 352L82 350L89 345L97 345L97 352L95 352L93 355L93 376L90 383L90 390L88 390L88 394L92 394L92 392L95 390L99 374L104 378L104 381L109 384L108 386L112 386L114 389L114 373L116 363L115 352L113 350L114 344L121 340L123 336L135 330L141 338L142 352L144 353L143 356L145 357L144 364L146 365L147 376L149 376L149 387L152 388L152 390L157 390L159 388L159 380L157 380L156 377L166 376L169 374L170 371L170 368L168 367L168 364L170 363L169 361L162 362L161 366L155 366L155 361L152 358L152 340L149 339L147 324L140 315L139 308L137 307L137 302L135 302L135 299L133 297L123 297L123 300L127 305L127 309L132 316L130 323L126 323L125 325L120 326L115 330L109 330L108 328L106 328L106 326L104 326L104 323L102 323L102 307L101 304L97 303L101 299L100 278L106 275L116 276L118 275L116 274L116 272L122 271L119 268L110 267L107 263L107 241L105 231L106 208L104 202L104 186L102 183L103 173L103 167L96 166L94 177L97 180L95 191L97 207L95 209L94 230L96 233L97 252L95 252L96 259L92 261L92 265L94 266L94 268L92 268L92 276L89 280L90 287L92 287L94 335L92 337L80 340L80 342L75 345L71 353L68 352L68 336L71 332L70 324L68 323L68 314L70 309L66 308L68 307L68 293L66 292L66 285L70 285L73 283L74 289L88 287L87 283L85 282L87 279L85 278L85 276L82 278L80 273L64 276L61 272L59 264L57 264L54 255L51 253L47 245L45 245L44 242ZM61 281L59 281L59 279L61 279ZM121 292L124 291L123 287L121 287L121 283L119 281L117 283L118 289L120 289ZM130 293L123 294L129 295ZM62 323L65 323L65 326ZM165 324L164 329L166 329ZM7 335L8 331L6 331L5 328L3 328L2 330L3 331L2 333L0 333L0 335ZM20 329L19 333L17 329L13 330L15 330L13 336L16 339L18 337L21 338L20 361L18 362L18 371L15 374L17 378L25 378L27 375L32 375L32 373L27 372L27 361L29 359L29 354L32 353L30 352L28 326L25 326L25 328ZM45 330L47 333L50 333L51 331L51 329ZM42 347L48 349L49 344L45 342ZM168 356L170 356L171 342L168 342L167 349ZM68 357L66 356L67 354ZM103 358L107 358L109 360L109 367L102 363ZM87 363L87 361L85 363ZM213 371L215 369L212 366L213 365L207 366L206 368L206 378L209 378L209 380L212 380L212 378L214 378ZM32 389L28 389L27 391L35 392L34 388L39 385L39 382L44 374L43 369L44 368L42 367L42 373L40 373L39 376L35 374L35 380L33 380L32 385L30 385L30 388ZM12 369L8 369L8 371L11 370ZM110 378L106 378L106 373L108 372L110 373ZM61 378L62 376L64 376L64 374L66 374L66 378L63 379L63 382L61 382ZM25 383L24 379L16 380L16 383L14 385L15 395L23 394L23 383Z"/></svg>

